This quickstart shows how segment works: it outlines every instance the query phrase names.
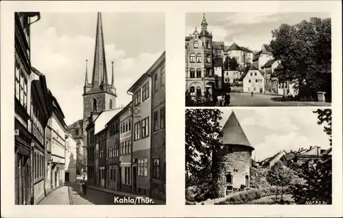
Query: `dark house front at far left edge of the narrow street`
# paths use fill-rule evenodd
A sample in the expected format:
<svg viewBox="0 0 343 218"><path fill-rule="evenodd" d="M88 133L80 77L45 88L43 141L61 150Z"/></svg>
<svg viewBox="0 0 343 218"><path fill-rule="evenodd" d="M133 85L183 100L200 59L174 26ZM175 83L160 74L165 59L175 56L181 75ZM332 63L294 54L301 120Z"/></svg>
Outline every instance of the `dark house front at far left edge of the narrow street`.
<svg viewBox="0 0 343 218"><path fill-rule="evenodd" d="M14 199L15 204L34 204L31 152L30 26L39 12L14 13Z"/></svg>

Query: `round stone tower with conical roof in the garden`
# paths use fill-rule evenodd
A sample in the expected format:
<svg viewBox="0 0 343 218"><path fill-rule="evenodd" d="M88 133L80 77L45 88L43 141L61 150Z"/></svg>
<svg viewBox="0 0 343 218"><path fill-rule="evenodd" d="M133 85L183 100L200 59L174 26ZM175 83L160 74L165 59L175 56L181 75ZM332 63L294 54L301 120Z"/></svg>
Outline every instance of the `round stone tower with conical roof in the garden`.
<svg viewBox="0 0 343 218"><path fill-rule="evenodd" d="M252 147L235 112L230 114L220 138L224 147L213 153L213 195L224 197L226 191L249 187Z"/></svg>

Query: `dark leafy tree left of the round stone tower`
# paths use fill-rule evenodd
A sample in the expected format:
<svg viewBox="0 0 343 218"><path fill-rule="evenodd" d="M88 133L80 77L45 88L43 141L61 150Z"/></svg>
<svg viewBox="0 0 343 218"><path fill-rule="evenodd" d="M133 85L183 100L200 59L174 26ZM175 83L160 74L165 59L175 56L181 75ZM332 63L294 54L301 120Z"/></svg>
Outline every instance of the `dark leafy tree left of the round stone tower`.
<svg viewBox="0 0 343 218"><path fill-rule="evenodd" d="M222 136L219 121L222 112L217 109L187 109L186 120L186 186L211 181L211 154L221 149L222 143L217 136Z"/></svg>

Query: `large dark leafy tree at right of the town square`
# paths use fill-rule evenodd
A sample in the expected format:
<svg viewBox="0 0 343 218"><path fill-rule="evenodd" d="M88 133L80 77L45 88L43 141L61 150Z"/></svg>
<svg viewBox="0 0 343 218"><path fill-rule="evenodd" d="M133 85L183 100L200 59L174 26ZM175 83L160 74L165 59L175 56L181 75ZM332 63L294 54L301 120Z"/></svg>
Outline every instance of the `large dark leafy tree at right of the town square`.
<svg viewBox="0 0 343 218"><path fill-rule="evenodd" d="M325 91L331 99L331 19L282 24L272 37L272 54L283 65L279 80L293 82L301 95Z"/></svg>

